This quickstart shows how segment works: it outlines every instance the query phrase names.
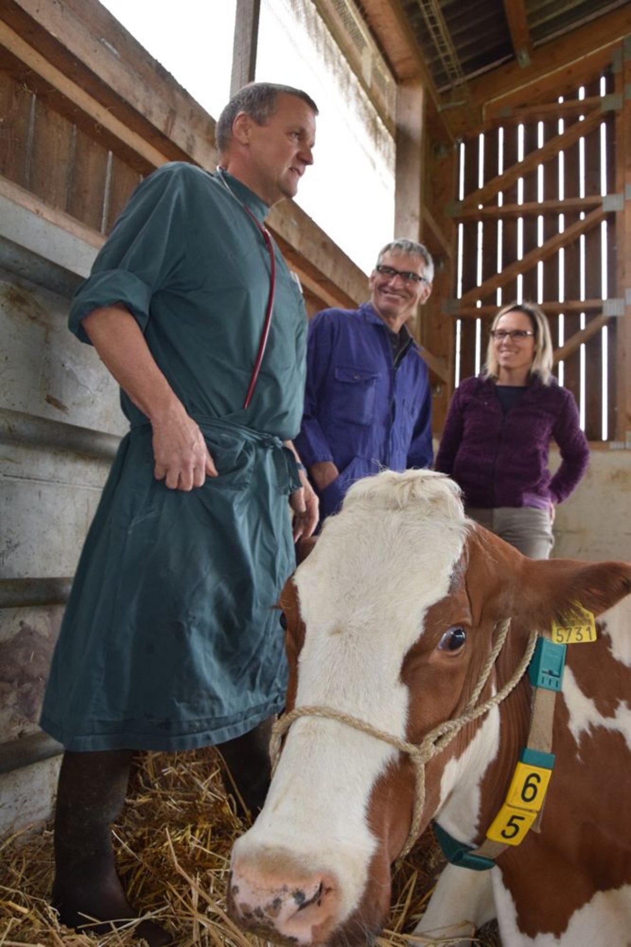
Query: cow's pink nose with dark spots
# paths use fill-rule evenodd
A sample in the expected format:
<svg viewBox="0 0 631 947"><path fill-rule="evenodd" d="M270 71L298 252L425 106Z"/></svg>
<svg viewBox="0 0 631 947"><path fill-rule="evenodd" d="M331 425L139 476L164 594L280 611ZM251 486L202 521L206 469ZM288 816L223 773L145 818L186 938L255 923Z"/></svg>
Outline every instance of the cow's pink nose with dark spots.
<svg viewBox="0 0 631 947"><path fill-rule="evenodd" d="M242 927L261 937L279 935L296 944L322 944L339 922L340 895L332 875L283 874L236 862L230 876L228 908Z"/></svg>

